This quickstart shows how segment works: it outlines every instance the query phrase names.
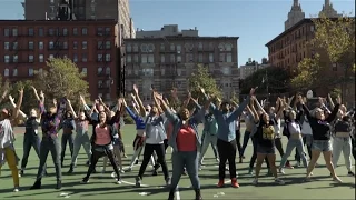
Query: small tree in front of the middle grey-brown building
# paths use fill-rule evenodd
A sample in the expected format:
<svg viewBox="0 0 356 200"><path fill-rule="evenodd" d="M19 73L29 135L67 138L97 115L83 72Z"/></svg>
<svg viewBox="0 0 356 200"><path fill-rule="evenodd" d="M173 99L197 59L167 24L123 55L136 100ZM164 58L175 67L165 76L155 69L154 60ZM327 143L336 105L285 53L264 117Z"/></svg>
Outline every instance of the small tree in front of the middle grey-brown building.
<svg viewBox="0 0 356 200"><path fill-rule="evenodd" d="M204 88L208 94L221 98L221 91L216 84L215 79L209 73L208 68L198 64L197 71L189 77L188 81L191 96L194 98L198 97L200 102L204 99L204 97L200 93L199 87Z"/></svg>

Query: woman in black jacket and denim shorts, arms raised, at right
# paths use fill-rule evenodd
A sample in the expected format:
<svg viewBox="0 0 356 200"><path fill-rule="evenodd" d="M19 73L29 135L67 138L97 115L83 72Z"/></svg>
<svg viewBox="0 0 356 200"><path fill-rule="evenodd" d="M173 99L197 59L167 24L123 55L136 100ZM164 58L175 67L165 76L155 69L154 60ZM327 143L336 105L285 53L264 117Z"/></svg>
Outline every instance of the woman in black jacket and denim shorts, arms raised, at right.
<svg viewBox="0 0 356 200"><path fill-rule="evenodd" d="M314 113L310 113L309 109L305 106L301 96L298 96L298 101L303 106L303 110L307 116L312 130L313 130L313 147L312 147L312 160L308 164L306 181L310 181L312 172L315 168L316 161L318 160L320 153L323 152L325 163L327 169L333 176L333 180L336 182L342 182L342 180L336 176L334 166L332 162L332 126L330 123L335 120L338 112L342 99L337 98L337 104L335 106L333 112L326 118L324 111L320 108L315 108Z"/></svg>

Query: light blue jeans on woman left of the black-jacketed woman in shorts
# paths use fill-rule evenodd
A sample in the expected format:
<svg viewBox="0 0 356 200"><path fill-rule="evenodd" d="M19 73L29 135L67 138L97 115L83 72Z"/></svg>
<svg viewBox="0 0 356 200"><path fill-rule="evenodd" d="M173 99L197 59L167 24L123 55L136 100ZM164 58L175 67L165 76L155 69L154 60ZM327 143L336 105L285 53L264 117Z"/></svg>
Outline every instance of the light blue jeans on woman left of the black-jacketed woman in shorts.
<svg viewBox="0 0 356 200"><path fill-rule="evenodd" d="M297 151L299 152L299 156L303 160L303 166L304 167L308 166L306 153L304 152L303 139L301 138L299 138L299 139L290 138L287 143L286 153L283 156L283 158L280 160L280 168L286 166L287 159L290 156L294 148L297 148Z"/></svg>

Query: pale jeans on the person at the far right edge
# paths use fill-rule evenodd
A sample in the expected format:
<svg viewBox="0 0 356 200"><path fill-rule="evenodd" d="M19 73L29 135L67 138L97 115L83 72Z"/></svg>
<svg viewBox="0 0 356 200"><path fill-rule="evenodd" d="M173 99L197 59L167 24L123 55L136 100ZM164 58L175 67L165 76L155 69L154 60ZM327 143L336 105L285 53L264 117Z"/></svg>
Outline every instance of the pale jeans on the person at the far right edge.
<svg viewBox="0 0 356 200"><path fill-rule="evenodd" d="M345 166L348 171L352 170L352 139L347 138L334 138L333 141L333 164L337 167L340 153L344 153Z"/></svg>

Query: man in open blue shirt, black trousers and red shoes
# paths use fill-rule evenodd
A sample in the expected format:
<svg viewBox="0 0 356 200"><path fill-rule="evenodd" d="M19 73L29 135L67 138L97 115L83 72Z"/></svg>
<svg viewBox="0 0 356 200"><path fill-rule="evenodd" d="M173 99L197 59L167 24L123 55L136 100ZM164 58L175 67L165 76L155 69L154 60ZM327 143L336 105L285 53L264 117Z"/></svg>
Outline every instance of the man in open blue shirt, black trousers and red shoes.
<svg viewBox="0 0 356 200"><path fill-rule="evenodd" d="M208 96L205 93L205 90L200 88L201 92L205 94L206 98ZM247 107L250 96L255 93L255 89L253 88L249 92L249 96L246 100L238 107L236 110L230 112L230 103L224 101L220 106L220 109L217 108L214 103L210 103L210 111L212 112L215 119L218 123L218 132L217 132L217 147L220 157L219 162L219 182L218 187L224 187L225 182L225 167L226 162L229 163L229 171L230 171L230 179L231 186L234 188L239 188L239 184L236 179L236 151L237 151L237 143L236 143L236 120L243 113L245 108Z"/></svg>

